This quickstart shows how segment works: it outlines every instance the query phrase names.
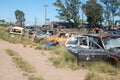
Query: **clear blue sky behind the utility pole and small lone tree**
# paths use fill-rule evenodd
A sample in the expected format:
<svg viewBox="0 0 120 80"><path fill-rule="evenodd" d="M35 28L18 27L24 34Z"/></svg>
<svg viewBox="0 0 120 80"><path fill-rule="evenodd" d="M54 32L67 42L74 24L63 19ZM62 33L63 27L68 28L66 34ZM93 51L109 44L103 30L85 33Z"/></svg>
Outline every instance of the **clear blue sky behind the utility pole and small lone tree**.
<svg viewBox="0 0 120 80"><path fill-rule="evenodd" d="M47 7L47 18L50 21L58 21L56 7L53 2L56 0L0 0L0 19L7 22L15 22L15 10L21 10L25 13L26 24L34 24L37 18L37 24L45 23L45 7ZM86 1L86 0L81 0Z"/></svg>

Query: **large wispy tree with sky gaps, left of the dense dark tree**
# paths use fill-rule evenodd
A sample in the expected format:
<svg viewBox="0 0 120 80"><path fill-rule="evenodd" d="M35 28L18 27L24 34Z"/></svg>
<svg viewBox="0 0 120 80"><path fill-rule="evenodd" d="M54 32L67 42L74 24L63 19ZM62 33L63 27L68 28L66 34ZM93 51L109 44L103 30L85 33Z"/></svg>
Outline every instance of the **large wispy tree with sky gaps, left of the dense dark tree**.
<svg viewBox="0 0 120 80"><path fill-rule="evenodd" d="M75 27L78 27L80 24L79 8L80 0L57 0L54 3L58 9L58 19L67 21L68 23L73 23Z"/></svg>

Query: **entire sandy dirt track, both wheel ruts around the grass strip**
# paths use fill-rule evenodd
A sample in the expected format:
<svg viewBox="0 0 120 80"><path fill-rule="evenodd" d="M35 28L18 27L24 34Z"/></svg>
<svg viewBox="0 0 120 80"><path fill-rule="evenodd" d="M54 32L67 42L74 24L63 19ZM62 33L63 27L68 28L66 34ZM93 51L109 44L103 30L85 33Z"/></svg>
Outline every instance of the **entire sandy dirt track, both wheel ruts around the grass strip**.
<svg viewBox="0 0 120 80"><path fill-rule="evenodd" d="M48 60L49 52L43 50L35 50L29 46L23 47L21 44L11 44L0 40L0 80L27 80L19 68L9 55L6 49L12 49L19 53L21 57L32 64L37 72L35 75L43 77L44 80L84 80L87 71L56 68Z"/></svg>

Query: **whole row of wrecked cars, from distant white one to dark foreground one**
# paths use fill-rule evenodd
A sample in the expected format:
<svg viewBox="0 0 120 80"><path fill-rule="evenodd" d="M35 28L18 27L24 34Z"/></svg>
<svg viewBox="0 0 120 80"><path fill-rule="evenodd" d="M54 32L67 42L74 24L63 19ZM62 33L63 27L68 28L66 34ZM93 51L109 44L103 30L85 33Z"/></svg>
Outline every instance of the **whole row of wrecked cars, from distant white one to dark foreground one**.
<svg viewBox="0 0 120 80"><path fill-rule="evenodd" d="M10 33L14 33L11 29ZM18 29L18 27L17 27ZM16 30L20 34L23 28ZM102 34L78 35L77 32L55 32L54 30L33 30L29 31L29 37L38 42L45 39L45 47L52 45L64 44L66 49L75 55L80 62L92 62L105 60L112 64L120 62L120 35L119 31L106 31ZM117 35L116 35L117 33Z"/></svg>

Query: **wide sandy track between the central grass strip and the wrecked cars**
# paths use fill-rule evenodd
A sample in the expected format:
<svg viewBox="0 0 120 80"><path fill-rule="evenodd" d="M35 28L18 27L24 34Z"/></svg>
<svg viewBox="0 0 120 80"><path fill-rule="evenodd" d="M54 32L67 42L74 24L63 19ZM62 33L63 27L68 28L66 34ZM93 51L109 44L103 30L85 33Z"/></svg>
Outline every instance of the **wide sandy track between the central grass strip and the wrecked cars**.
<svg viewBox="0 0 120 80"><path fill-rule="evenodd" d="M44 80L84 80L87 70L76 70L56 68L48 60L49 52L43 50L35 50L30 47L23 47L21 44L10 44L0 40L0 45L4 49L12 49L19 53L21 57L32 64L36 70L37 76L41 76ZM7 46L9 45L9 46ZM43 54L44 55L43 55Z"/></svg>

